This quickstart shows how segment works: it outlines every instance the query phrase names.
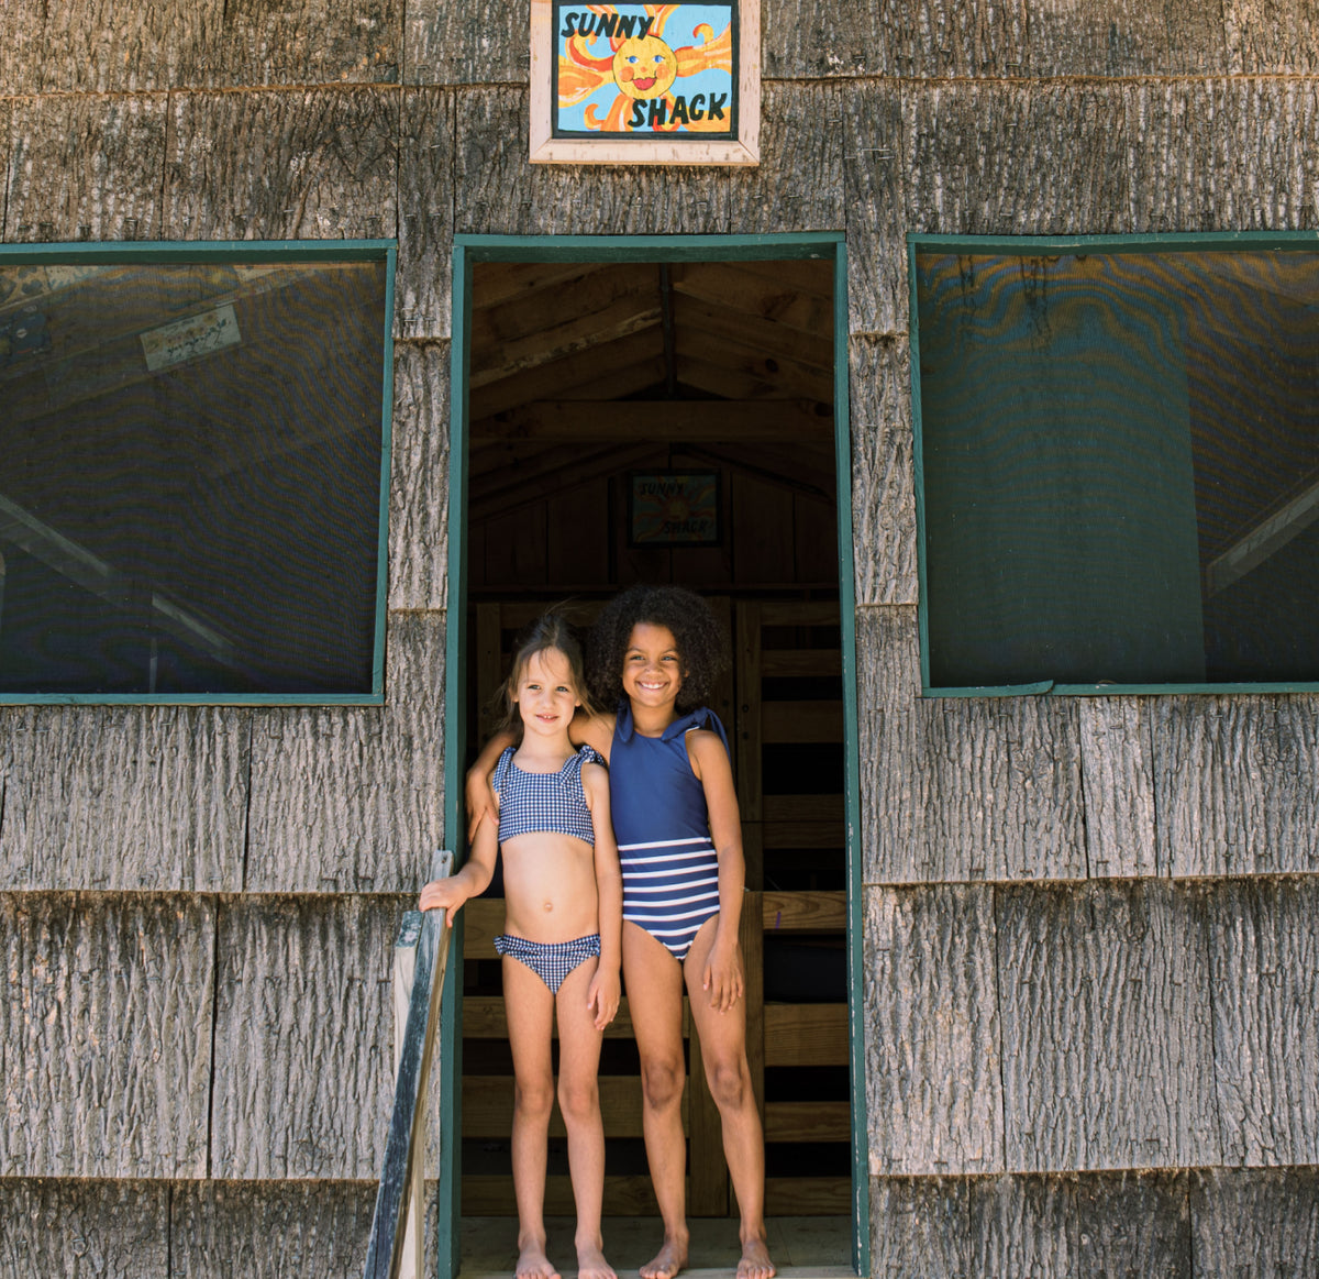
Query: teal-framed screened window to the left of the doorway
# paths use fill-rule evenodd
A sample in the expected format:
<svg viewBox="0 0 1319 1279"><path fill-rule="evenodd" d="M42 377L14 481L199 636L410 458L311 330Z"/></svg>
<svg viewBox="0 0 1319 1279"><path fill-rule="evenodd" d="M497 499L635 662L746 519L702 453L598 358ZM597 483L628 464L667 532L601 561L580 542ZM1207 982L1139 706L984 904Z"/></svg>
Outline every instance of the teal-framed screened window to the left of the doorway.
<svg viewBox="0 0 1319 1279"><path fill-rule="evenodd" d="M0 698L383 694L392 263L0 253Z"/></svg>

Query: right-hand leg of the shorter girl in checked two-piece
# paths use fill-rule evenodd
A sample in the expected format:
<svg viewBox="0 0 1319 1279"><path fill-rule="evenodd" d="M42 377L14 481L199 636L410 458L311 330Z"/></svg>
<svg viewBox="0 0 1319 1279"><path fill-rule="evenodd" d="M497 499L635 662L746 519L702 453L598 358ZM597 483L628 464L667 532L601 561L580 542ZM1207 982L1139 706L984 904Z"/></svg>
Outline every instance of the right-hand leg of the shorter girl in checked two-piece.
<svg viewBox="0 0 1319 1279"><path fill-rule="evenodd" d="M579 964L555 997L559 1018L559 1110L568 1130L568 1171L576 1202L578 1279L617 1279L604 1259L604 1123L600 1121L600 1031L587 1006L598 960Z"/></svg>

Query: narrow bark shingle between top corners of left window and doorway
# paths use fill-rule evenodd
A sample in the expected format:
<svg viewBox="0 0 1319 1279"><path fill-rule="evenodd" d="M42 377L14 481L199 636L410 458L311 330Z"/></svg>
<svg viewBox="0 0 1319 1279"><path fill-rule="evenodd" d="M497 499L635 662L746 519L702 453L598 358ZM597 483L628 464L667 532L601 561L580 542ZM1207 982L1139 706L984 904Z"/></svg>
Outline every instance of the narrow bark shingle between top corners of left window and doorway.
<svg viewBox="0 0 1319 1279"><path fill-rule="evenodd" d="M439 88L405 90L398 120L396 337L450 335L452 240L454 98Z"/></svg>

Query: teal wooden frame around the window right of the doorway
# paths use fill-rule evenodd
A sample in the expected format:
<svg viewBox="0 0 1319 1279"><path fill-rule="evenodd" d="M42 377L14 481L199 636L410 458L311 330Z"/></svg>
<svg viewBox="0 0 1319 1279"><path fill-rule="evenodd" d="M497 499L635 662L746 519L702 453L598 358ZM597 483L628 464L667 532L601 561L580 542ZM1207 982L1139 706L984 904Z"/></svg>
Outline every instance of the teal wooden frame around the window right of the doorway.
<svg viewBox="0 0 1319 1279"><path fill-rule="evenodd" d="M929 556L926 553L925 458L921 422L921 333L917 298L917 255L925 251L951 253L1012 255L1021 257L1058 253L1121 252L1178 253L1194 251L1316 251L1319 231L1206 231L1150 235L926 235L909 232L907 290L910 331L911 426L915 469L917 561L919 574L918 620L921 639L921 693L923 697L1111 697L1187 693L1319 693L1319 680L1184 684L1064 684L1039 680L1030 684L940 686L930 678Z"/></svg>

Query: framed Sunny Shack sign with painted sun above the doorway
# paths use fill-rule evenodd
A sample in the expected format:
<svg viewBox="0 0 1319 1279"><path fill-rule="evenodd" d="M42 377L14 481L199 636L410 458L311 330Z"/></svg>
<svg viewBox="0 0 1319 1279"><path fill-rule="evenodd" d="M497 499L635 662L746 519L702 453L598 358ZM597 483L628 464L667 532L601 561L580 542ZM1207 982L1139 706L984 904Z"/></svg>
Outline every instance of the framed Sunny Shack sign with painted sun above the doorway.
<svg viewBox="0 0 1319 1279"><path fill-rule="evenodd" d="M760 0L532 0L534 164L760 161Z"/></svg>

